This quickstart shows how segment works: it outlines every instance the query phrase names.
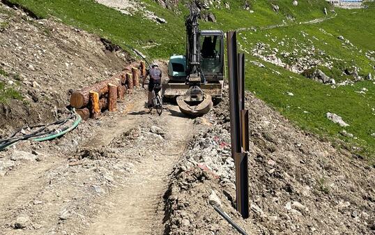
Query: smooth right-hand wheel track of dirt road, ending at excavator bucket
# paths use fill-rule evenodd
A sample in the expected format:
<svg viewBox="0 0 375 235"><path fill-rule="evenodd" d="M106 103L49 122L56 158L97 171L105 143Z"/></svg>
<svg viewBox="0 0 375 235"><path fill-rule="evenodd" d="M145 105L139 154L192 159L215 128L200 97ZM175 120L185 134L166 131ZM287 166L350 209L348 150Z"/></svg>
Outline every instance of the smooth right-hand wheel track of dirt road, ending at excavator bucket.
<svg viewBox="0 0 375 235"><path fill-rule="evenodd" d="M86 234L163 234L163 211L158 211L167 188L168 174L192 137L192 120L177 116L178 107L171 107L158 121L165 130L167 146L148 153L135 165L136 174L124 187L106 198L112 206L96 218Z"/></svg>

